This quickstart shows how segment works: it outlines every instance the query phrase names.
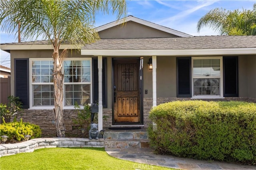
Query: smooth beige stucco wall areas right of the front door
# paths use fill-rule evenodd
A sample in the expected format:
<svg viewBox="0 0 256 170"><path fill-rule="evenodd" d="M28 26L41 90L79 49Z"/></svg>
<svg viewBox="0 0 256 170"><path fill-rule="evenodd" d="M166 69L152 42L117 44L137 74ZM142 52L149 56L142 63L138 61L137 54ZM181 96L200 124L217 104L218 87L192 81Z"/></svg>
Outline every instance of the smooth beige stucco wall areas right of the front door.
<svg viewBox="0 0 256 170"><path fill-rule="evenodd" d="M148 70L148 59L144 57L144 94L152 97L152 70ZM157 98L176 98L176 57L157 56L156 80ZM256 97L256 56L238 57L238 94L239 97Z"/></svg>

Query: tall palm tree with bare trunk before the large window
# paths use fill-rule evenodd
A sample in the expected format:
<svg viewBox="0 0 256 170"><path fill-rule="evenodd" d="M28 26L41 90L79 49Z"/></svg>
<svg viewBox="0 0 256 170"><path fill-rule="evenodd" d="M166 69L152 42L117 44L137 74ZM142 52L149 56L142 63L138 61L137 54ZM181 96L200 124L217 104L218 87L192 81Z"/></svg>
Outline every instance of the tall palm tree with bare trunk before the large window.
<svg viewBox="0 0 256 170"><path fill-rule="evenodd" d="M18 33L21 24L23 39L49 40L53 47L54 113L57 136L65 129L63 120L63 60L68 49L59 53L60 44L68 41L79 49L80 45L99 39L93 28L98 12L126 15L125 0L1 0L0 25L7 33Z"/></svg>

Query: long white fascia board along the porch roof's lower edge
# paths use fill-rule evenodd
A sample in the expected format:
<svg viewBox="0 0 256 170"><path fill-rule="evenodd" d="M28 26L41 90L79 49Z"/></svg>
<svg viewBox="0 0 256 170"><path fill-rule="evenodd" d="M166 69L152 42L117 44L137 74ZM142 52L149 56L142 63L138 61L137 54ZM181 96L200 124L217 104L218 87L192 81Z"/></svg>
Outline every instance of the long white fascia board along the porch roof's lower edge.
<svg viewBox="0 0 256 170"><path fill-rule="evenodd" d="M94 56L206 56L206 55L256 55L253 48L225 49L164 49L164 50L110 50L110 49L81 49L81 55Z"/></svg>

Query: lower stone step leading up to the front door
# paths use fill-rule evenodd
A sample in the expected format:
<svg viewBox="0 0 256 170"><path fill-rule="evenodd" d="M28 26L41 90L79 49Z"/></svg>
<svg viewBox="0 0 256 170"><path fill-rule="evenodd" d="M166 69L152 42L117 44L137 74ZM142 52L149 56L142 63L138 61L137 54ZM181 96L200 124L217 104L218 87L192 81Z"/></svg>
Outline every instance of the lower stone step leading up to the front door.
<svg viewBox="0 0 256 170"><path fill-rule="evenodd" d="M105 139L105 148L149 148L148 139Z"/></svg>

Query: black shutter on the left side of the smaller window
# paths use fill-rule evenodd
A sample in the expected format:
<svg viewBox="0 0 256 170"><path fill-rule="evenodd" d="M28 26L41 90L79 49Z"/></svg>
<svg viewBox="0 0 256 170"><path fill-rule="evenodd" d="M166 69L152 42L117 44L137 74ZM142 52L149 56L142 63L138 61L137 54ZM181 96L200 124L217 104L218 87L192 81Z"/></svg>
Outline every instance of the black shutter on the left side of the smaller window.
<svg viewBox="0 0 256 170"><path fill-rule="evenodd" d="M177 98L191 98L191 57L176 58Z"/></svg>

